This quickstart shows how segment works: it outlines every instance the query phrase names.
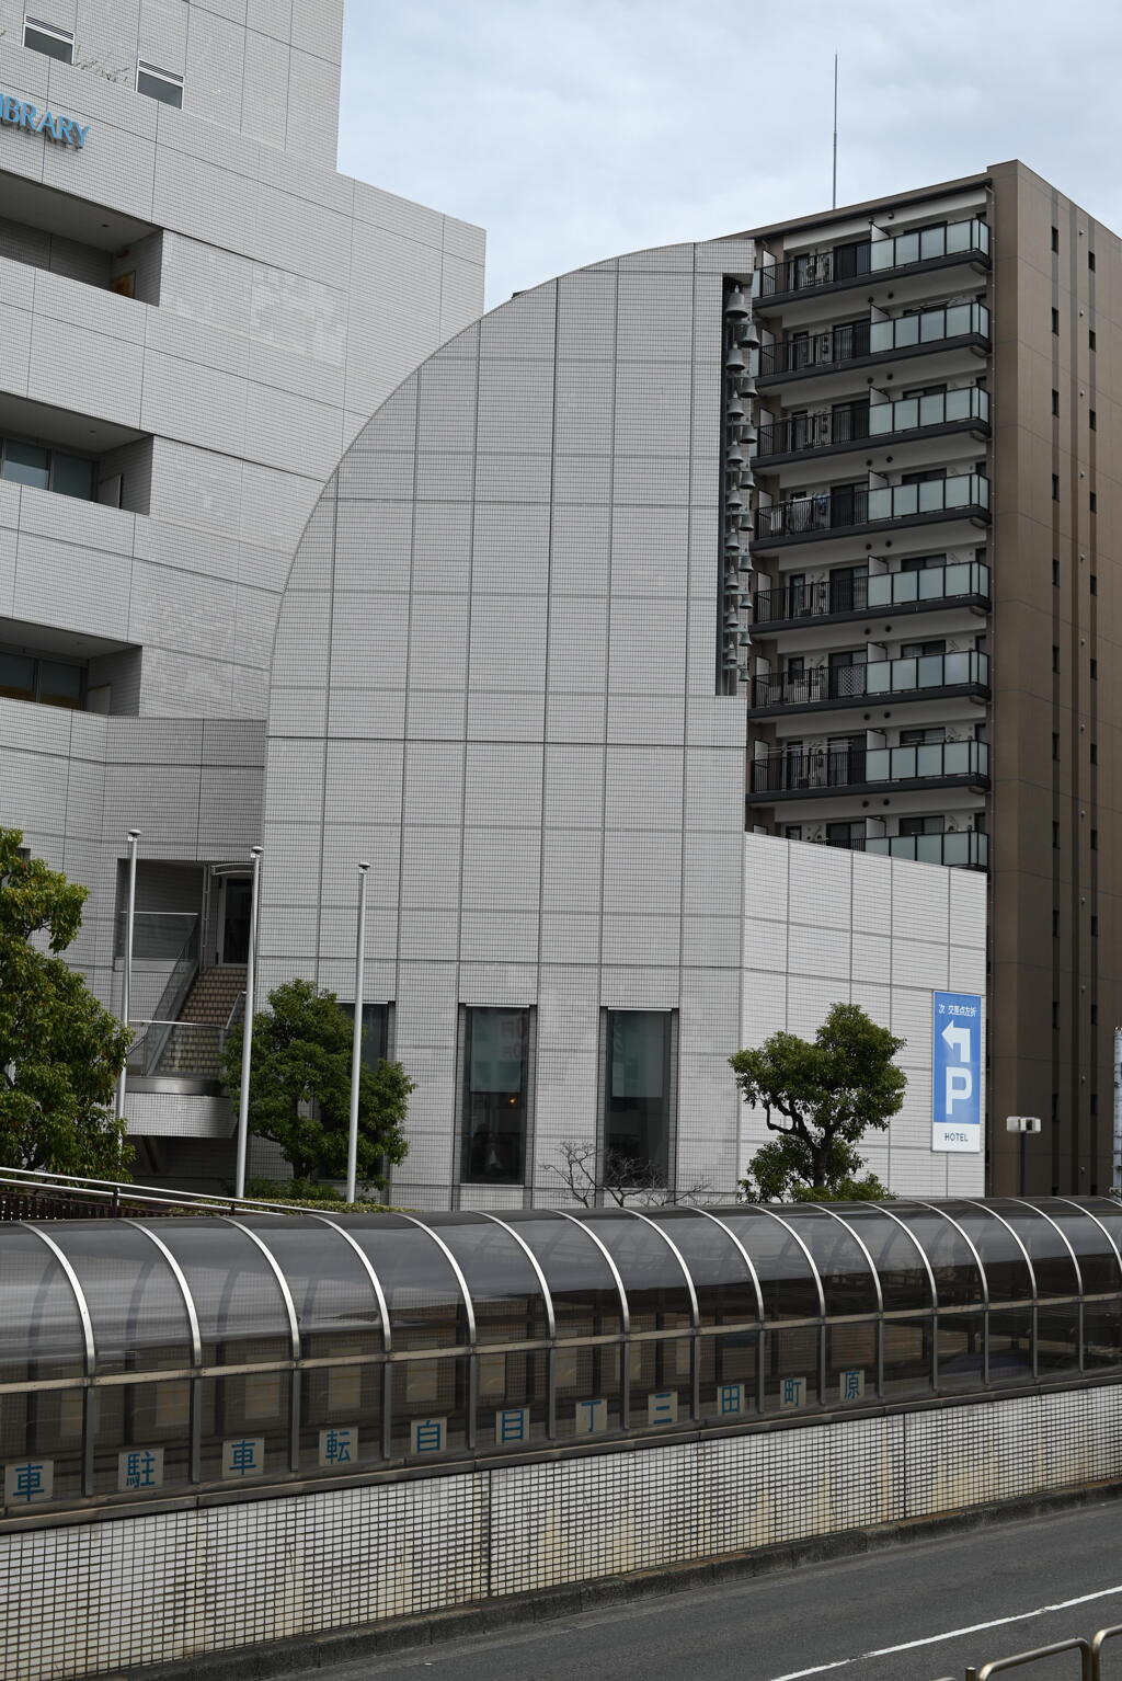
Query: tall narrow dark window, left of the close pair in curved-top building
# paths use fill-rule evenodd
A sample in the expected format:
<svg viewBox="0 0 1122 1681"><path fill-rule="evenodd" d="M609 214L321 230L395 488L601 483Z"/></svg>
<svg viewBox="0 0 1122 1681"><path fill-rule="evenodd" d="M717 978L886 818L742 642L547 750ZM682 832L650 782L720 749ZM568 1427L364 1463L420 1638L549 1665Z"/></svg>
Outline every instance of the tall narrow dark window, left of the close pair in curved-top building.
<svg viewBox="0 0 1122 1681"><path fill-rule="evenodd" d="M529 1010L464 1012L464 1165L467 1185L526 1177Z"/></svg>

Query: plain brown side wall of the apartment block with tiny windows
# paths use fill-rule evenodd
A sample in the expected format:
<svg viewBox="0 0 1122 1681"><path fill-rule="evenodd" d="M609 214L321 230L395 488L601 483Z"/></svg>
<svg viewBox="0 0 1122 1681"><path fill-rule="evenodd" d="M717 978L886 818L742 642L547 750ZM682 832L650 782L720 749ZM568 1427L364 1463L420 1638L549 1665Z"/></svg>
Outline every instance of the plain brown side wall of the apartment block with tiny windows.
<svg viewBox="0 0 1122 1681"><path fill-rule="evenodd" d="M1025 165L989 173L989 1178L993 1192L1021 1188L1020 1141L1004 1116L1040 1115L1025 1188L1087 1194L1110 1185L1112 1034L1122 1019L1122 242Z"/></svg>

